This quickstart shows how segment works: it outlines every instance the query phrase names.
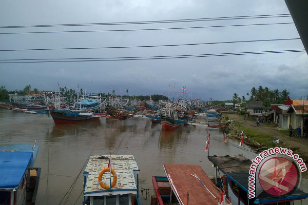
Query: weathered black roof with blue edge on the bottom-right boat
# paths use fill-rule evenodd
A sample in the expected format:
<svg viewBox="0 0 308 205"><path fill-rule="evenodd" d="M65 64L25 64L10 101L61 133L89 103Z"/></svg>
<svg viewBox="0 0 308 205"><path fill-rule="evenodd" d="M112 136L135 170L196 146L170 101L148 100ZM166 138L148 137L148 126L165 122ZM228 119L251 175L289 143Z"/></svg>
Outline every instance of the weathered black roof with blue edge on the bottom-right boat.
<svg viewBox="0 0 308 205"><path fill-rule="evenodd" d="M249 169L251 161L243 155L226 155L226 156L209 156L209 160L217 166L224 174L227 175L234 183L241 187L245 192L249 193ZM308 195L301 189L295 190L291 195L268 198L263 191L258 198L255 198L255 204L265 204L283 200L300 200L306 199Z"/></svg>

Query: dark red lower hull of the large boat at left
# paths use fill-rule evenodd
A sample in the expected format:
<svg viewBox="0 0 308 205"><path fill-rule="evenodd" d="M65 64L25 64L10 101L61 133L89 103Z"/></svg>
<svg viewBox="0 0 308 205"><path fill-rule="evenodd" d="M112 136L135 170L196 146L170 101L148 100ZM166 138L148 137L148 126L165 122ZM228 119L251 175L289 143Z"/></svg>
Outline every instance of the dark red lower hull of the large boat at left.
<svg viewBox="0 0 308 205"><path fill-rule="evenodd" d="M65 112L51 112L55 124L72 124L99 120L96 116L67 116Z"/></svg>

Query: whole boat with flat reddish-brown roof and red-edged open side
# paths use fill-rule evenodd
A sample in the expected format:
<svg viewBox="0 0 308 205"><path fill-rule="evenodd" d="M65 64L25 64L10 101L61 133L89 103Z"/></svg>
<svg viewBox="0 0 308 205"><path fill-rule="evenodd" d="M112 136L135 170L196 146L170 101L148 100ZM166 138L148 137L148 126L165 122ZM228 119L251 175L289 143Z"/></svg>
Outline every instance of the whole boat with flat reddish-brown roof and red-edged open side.
<svg viewBox="0 0 308 205"><path fill-rule="evenodd" d="M164 164L164 171L166 176L152 176L156 199L151 204L217 205L221 201L221 192L200 166Z"/></svg>

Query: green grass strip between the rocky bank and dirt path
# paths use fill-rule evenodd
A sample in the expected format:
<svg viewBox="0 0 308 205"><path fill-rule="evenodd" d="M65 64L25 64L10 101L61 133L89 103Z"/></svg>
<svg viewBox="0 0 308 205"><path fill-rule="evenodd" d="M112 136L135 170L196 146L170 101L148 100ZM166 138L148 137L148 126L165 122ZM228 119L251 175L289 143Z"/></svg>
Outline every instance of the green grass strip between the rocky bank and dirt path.
<svg viewBox="0 0 308 205"><path fill-rule="evenodd" d="M260 144L263 144L266 147L277 147L278 144L273 142L275 139L273 136L264 134L263 132L255 130L253 128L243 126L240 123L236 123L236 125L239 129L244 130L245 135L248 136L250 139Z"/></svg>

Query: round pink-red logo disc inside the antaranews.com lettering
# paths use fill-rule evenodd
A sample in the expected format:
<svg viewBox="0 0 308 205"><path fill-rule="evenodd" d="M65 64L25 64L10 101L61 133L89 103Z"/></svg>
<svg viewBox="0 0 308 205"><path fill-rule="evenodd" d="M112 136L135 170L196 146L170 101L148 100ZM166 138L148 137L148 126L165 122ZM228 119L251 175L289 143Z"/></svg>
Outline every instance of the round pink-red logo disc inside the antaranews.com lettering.
<svg viewBox="0 0 308 205"><path fill-rule="evenodd" d="M281 196L293 190L298 181L298 172L290 160L273 157L262 164L258 178L264 191Z"/></svg>

